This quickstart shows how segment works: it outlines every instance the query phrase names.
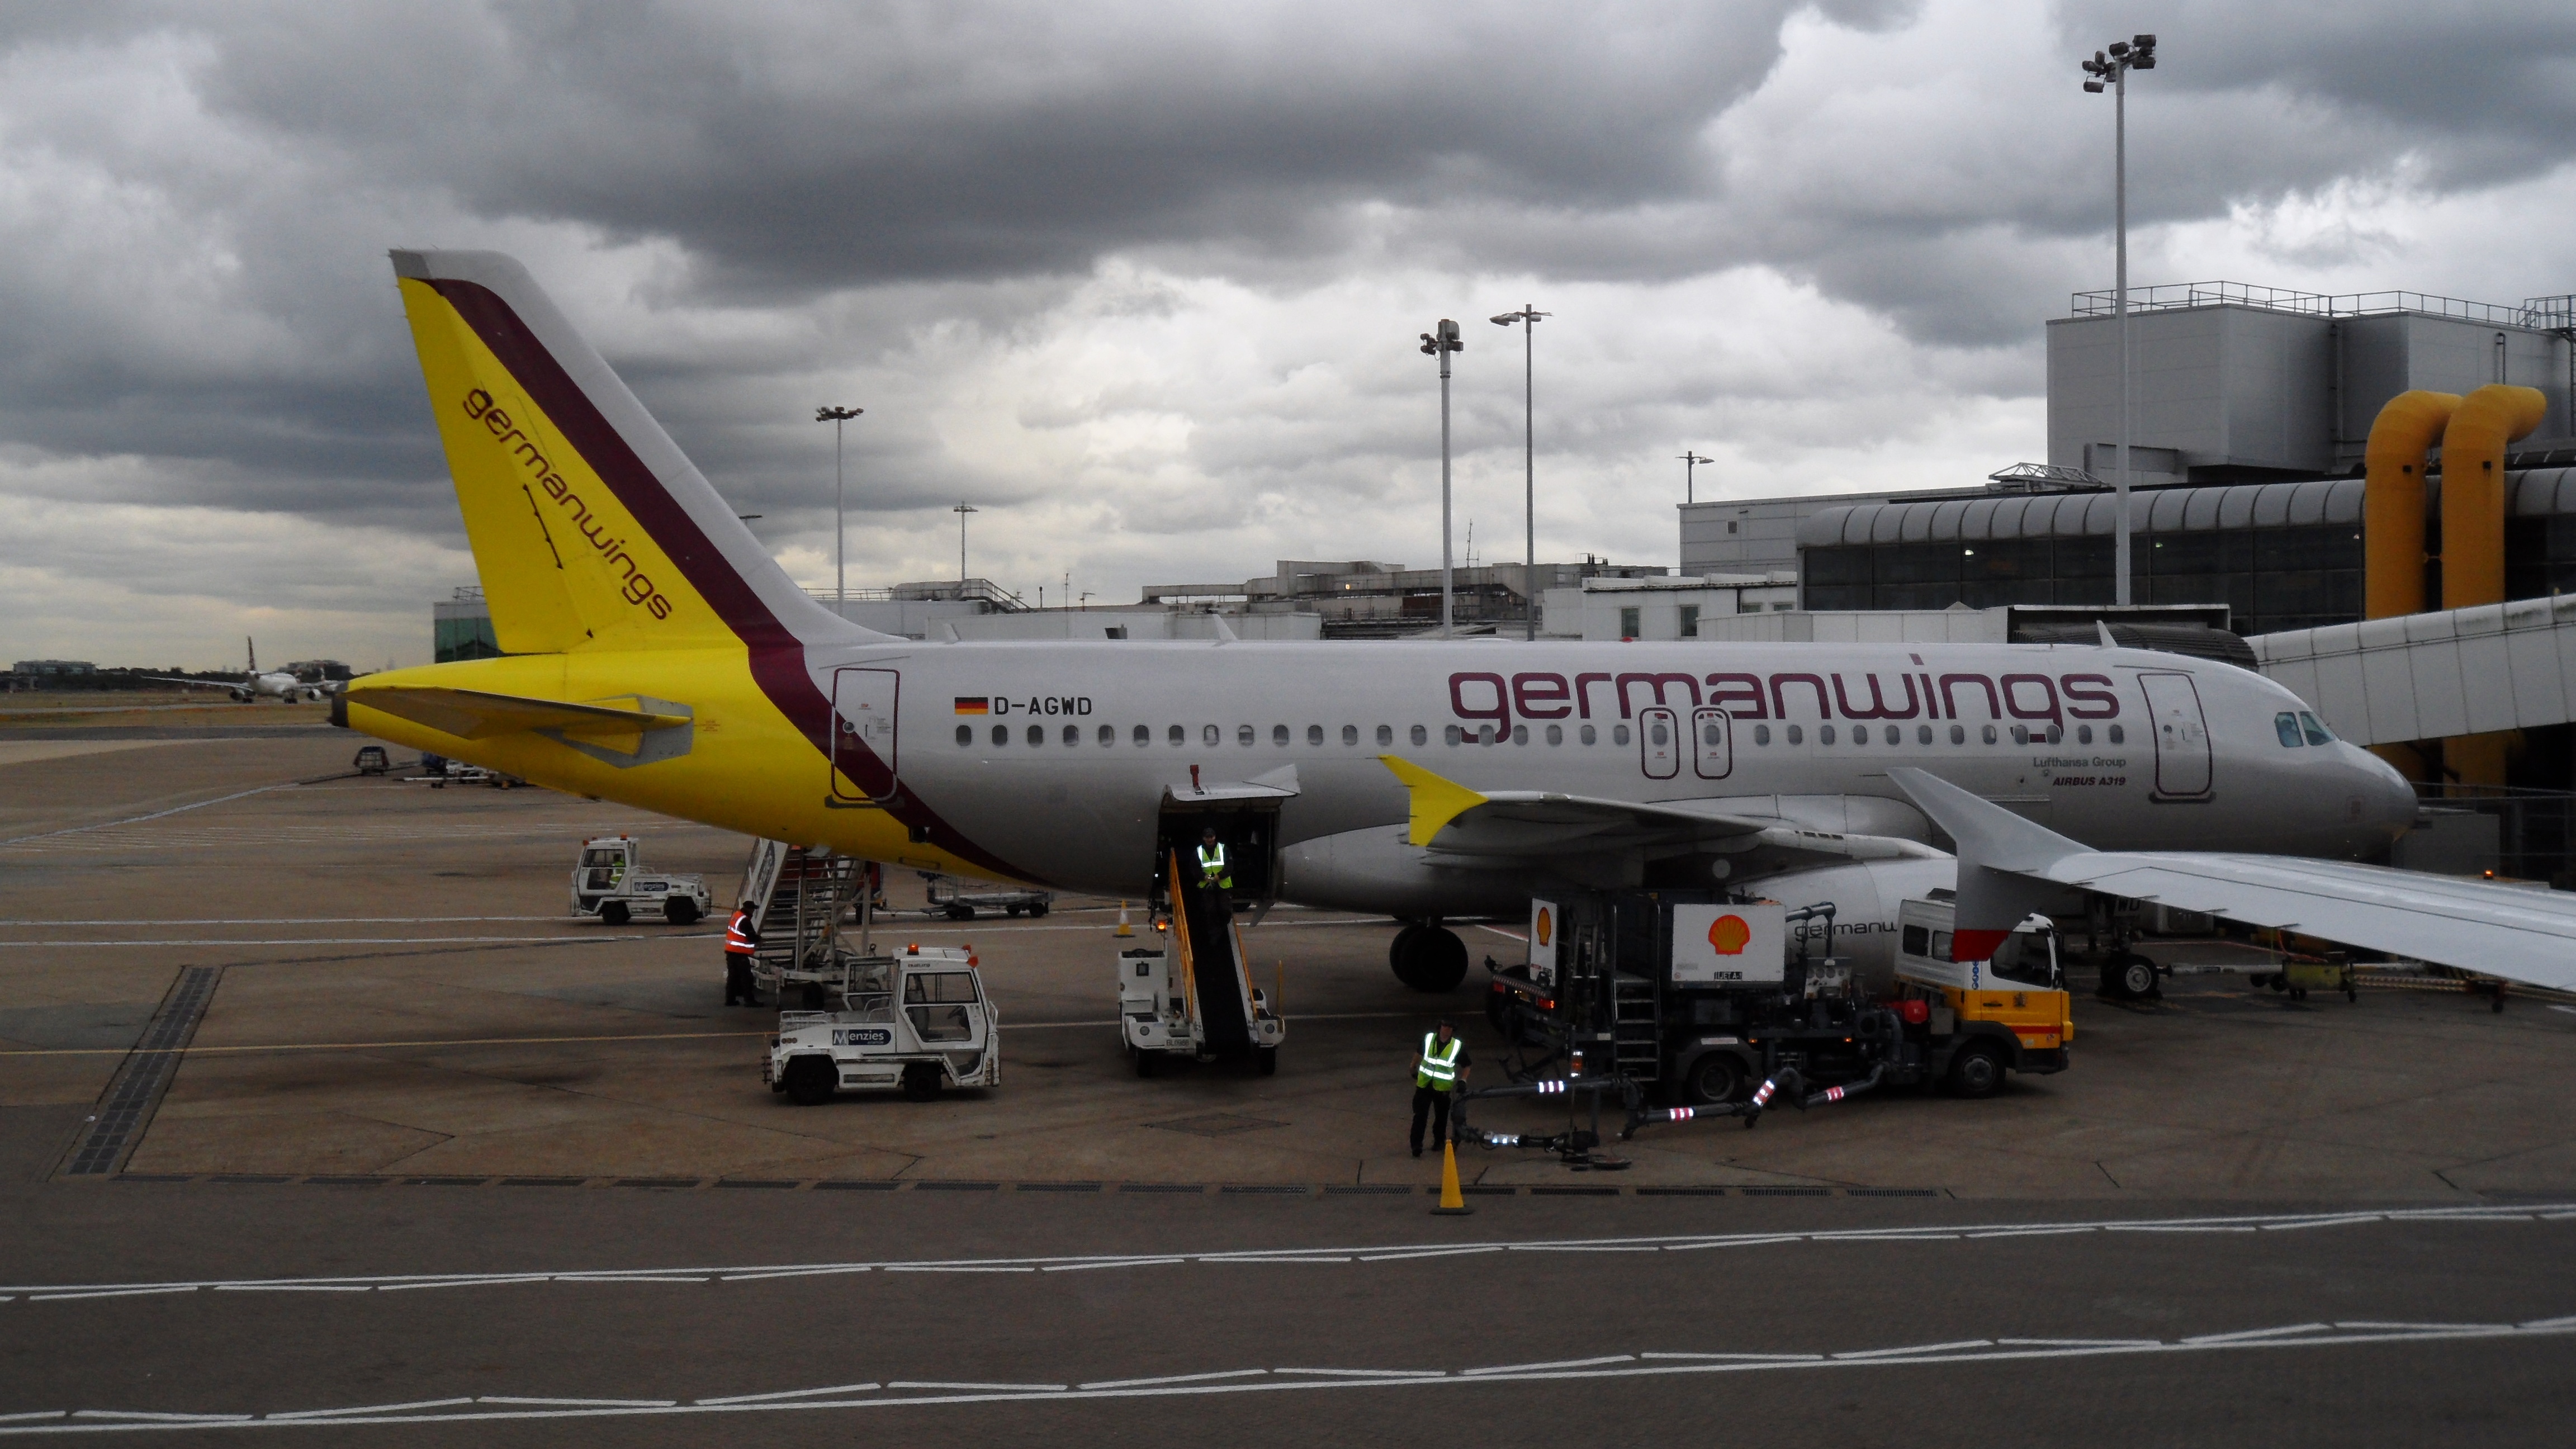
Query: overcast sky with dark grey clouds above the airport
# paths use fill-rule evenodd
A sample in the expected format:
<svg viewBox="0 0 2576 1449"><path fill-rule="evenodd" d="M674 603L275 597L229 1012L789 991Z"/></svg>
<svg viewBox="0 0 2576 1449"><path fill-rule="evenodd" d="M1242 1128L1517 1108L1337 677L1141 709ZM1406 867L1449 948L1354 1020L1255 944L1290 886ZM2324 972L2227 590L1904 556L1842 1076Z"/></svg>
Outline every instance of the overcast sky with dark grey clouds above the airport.
<svg viewBox="0 0 2576 1449"><path fill-rule="evenodd" d="M2576 291L2576 8L0 5L0 657L425 663L474 583L384 253L500 248L796 578L1036 601L2045 456L2110 284Z"/></svg>

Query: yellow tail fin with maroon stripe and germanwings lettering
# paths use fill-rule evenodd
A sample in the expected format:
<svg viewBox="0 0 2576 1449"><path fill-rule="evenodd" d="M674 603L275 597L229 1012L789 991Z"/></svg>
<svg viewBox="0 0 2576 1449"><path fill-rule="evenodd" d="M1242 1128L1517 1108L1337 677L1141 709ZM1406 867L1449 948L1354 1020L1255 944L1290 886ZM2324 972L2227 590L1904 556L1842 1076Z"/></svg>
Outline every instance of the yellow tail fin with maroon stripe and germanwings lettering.
<svg viewBox="0 0 2576 1449"><path fill-rule="evenodd" d="M502 652L884 637L788 580L528 268L392 258Z"/></svg>

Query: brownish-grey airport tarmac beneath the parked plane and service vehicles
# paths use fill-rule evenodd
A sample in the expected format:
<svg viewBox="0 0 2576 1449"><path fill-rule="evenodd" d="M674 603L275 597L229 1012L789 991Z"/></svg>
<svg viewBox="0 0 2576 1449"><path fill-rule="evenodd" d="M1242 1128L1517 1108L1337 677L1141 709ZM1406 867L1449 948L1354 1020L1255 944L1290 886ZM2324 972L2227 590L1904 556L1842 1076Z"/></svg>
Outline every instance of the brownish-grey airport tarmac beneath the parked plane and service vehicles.
<svg viewBox="0 0 2576 1449"><path fill-rule="evenodd" d="M1115 902L894 920L974 944L1002 1085L799 1109L714 923L567 905L585 835L719 902L747 841L353 779L314 714L0 722L0 1436L1553 1444L1582 1403L1615 1444L2543 1444L2576 1408L2553 1000L2084 995L2076 1065L1991 1101L1654 1127L1625 1173L1471 1150L1435 1220L1404 1062L1443 1011L1479 1080L1499 1044L1386 920L1270 913L1278 1075L1154 1080Z"/></svg>

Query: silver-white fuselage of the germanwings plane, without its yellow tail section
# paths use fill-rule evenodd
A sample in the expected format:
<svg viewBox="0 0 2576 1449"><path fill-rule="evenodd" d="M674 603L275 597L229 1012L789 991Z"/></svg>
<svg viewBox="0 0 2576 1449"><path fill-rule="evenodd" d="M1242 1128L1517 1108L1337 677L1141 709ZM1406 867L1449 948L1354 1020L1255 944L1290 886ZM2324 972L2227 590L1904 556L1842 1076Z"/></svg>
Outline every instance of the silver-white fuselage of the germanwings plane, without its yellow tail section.
<svg viewBox="0 0 2576 1449"><path fill-rule="evenodd" d="M1517 910L1530 871L1404 843L1401 755L1479 792L1728 802L1932 841L1886 771L1919 766L2097 848L2352 856L2414 820L2303 704L2223 663L2071 645L873 645L817 686L891 699L896 779L1012 874L1144 895L1164 799L1280 802L1280 895L1399 915ZM824 781L817 781L819 786Z"/></svg>

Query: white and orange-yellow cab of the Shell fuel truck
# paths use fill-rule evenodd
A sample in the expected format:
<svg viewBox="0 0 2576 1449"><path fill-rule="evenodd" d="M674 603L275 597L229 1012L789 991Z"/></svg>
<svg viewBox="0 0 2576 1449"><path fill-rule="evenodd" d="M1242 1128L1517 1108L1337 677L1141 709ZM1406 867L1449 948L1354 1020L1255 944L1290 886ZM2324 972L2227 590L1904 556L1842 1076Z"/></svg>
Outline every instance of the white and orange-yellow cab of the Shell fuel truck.
<svg viewBox="0 0 2576 1449"><path fill-rule="evenodd" d="M1911 1031L1991 1062L1955 1067L1971 1096L2002 1070L2058 1073L2076 1039L2074 995L2058 959L2058 928L2030 915L1981 962L1953 962L1958 902L1937 890L1896 908L1899 1013ZM1991 1091L1991 1088L1989 1088Z"/></svg>

